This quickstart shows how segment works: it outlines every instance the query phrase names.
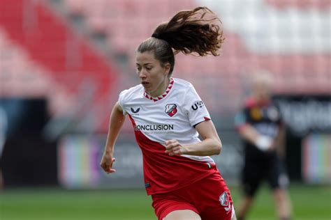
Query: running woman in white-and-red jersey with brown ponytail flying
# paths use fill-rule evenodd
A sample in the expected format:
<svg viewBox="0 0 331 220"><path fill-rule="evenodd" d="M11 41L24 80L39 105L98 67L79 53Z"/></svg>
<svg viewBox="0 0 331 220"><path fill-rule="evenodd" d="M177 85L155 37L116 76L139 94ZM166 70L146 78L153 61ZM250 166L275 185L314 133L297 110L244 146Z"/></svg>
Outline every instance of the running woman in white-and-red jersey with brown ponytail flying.
<svg viewBox="0 0 331 220"><path fill-rule="evenodd" d="M128 115L160 220L235 219L230 191L209 157L221 152L219 135L192 84L172 77L177 52L218 55L224 39L217 21L199 7L160 24L136 50L141 84L122 91L112 109L101 167L115 172L115 141Z"/></svg>

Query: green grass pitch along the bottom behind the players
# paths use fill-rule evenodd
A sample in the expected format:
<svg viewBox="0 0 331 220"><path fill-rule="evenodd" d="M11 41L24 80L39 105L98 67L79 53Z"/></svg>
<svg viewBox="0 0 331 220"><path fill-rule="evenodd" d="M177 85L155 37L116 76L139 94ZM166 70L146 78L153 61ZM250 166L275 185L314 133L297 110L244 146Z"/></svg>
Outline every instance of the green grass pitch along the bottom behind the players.
<svg viewBox="0 0 331 220"><path fill-rule="evenodd" d="M230 187L235 205L240 192ZM295 220L330 220L331 187L292 184ZM267 187L260 189L248 220L277 219ZM0 192L1 220L149 220L156 219L143 189L68 191L6 189Z"/></svg>

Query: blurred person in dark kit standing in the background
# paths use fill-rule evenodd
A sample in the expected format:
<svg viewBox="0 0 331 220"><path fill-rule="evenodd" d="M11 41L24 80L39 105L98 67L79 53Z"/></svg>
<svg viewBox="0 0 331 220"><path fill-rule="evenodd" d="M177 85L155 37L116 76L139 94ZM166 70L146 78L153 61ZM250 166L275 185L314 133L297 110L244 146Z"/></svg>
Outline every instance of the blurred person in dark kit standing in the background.
<svg viewBox="0 0 331 220"><path fill-rule="evenodd" d="M242 187L244 198L237 209L245 219L262 180L272 188L279 219L290 219L290 200L286 191L288 177L282 162L284 124L279 109L272 103L272 74L256 72L251 79L251 95L235 117L237 132L244 142Z"/></svg>

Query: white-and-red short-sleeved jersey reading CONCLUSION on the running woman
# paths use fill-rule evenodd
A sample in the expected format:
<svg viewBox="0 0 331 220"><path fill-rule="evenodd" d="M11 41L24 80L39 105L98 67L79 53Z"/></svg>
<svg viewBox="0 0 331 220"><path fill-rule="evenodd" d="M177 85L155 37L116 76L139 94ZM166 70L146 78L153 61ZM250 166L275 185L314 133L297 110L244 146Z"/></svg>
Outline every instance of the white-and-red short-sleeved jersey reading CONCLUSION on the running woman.
<svg viewBox="0 0 331 220"><path fill-rule="evenodd" d="M147 194L163 193L196 182L212 173L211 157L165 153L165 141L198 143L194 126L210 120L209 113L188 81L170 78L165 93L151 97L140 84L122 91L119 104L128 114L142 150Z"/></svg>

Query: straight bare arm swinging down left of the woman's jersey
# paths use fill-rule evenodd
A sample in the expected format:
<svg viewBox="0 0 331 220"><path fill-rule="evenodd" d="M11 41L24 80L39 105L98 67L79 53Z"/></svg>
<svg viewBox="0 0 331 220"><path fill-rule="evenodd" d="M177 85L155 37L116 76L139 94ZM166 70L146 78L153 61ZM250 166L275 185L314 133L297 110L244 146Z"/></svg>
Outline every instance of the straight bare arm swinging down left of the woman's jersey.
<svg viewBox="0 0 331 220"><path fill-rule="evenodd" d="M115 158L112 157L114 154L115 142L117 136L124 124L125 115L123 114L123 109L116 102L110 114L110 123L107 135L107 141L105 143L105 150L103 152L103 157L101 159L100 166L106 173L114 173L115 169L112 168L112 163L115 162Z"/></svg>

